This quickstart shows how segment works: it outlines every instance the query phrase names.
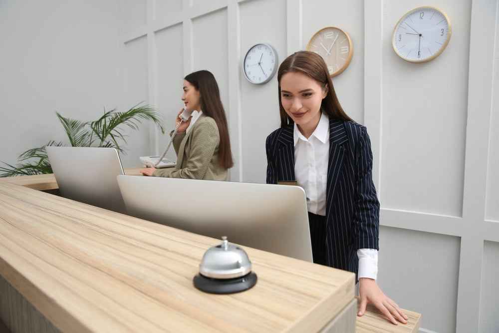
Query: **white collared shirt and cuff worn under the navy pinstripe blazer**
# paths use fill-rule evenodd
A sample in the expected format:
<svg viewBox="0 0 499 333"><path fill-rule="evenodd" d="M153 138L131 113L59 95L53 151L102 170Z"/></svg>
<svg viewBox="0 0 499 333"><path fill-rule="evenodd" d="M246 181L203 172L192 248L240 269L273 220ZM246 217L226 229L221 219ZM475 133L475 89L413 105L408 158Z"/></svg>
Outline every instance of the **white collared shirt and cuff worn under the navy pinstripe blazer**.
<svg viewBox="0 0 499 333"><path fill-rule="evenodd" d="M329 161L329 117L322 113L317 127L307 139L294 124L294 174L298 186L305 190L307 209L316 215L326 215L327 164ZM358 249L357 278L376 280L378 251Z"/></svg>

